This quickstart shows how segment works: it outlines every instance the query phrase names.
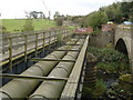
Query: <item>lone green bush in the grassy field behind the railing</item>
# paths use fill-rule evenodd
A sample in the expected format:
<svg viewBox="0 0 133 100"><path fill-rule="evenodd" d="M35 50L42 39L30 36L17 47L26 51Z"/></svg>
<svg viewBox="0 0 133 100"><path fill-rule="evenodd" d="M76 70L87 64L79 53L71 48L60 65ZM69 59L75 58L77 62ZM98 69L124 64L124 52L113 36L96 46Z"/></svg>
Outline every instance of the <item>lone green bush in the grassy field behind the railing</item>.
<svg viewBox="0 0 133 100"><path fill-rule="evenodd" d="M23 26L23 29L22 29L22 31L23 32L25 32L25 31L33 31L34 30L34 28L33 28L33 21L32 21L32 19L27 19L25 20L25 24Z"/></svg>

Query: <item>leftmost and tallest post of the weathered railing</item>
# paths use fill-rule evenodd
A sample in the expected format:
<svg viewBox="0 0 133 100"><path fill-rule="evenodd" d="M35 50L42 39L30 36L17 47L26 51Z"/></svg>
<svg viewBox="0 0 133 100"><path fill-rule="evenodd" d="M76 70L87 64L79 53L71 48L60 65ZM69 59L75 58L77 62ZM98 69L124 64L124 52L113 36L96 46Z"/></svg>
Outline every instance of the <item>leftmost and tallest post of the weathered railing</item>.
<svg viewBox="0 0 133 100"><path fill-rule="evenodd" d="M9 37L9 69L12 71L12 38Z"/></svg>

